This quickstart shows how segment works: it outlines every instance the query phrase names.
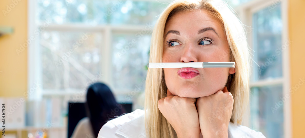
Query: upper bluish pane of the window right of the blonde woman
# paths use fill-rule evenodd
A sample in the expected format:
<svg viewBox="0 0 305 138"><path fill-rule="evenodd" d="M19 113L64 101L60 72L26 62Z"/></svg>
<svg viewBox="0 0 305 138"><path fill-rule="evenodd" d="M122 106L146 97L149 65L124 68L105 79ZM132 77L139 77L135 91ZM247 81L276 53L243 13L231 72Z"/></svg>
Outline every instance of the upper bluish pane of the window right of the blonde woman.
<svg viewBox="0 0 305 138"><path fill-rule="evenodd" d="M253 81L282 77L282 27L280 5L253 14Z"/></svg>

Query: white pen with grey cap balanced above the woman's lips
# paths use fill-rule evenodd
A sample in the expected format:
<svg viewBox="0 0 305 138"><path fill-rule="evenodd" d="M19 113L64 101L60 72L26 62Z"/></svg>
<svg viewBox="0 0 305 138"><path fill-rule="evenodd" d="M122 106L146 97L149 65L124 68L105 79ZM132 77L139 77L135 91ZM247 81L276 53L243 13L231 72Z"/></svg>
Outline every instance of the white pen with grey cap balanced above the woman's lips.
<svg viewBox="0 0 305 138"><path fill-rule="evenodd" d="M182 68L182 67L235 67L235 62L162 62L147 63L149 68Z"/></svg>

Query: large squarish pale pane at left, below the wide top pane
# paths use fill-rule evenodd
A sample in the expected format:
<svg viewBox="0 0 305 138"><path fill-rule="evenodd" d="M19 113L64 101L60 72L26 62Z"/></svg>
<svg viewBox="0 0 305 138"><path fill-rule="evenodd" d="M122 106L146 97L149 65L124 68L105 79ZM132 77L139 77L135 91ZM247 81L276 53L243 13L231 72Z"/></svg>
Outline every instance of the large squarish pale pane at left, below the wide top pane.
<svg viewBox="0 0 305 138"><path fill-rule="evenodd" d="M83 89L101 78L102 34L44 31L40 37L44 89Z"/></svg>

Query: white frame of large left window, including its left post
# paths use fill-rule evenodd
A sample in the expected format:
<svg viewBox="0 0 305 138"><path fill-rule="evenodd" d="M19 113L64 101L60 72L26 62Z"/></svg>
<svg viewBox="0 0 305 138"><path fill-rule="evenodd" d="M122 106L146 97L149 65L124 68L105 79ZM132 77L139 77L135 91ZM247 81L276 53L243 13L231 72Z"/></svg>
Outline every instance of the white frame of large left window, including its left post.
<svg viewBox="0 0 305 138"><path fill-rule="evenodd" d="M153 0L141 0L141 1L153 1ZM161 0L161 2L168 2L167 0ZM28 46L28 88L31 88L35 82L42 82L41 75L42 68L40 64L39 57L39 36L35 36L34 31L37 31L40 27L44 26L44 23L38 23L37 17L35 16L37 10L37 1L32 0L28 1L28 39L31 36L35 37L35 41L29 44ZM146 28L145 28L146 27ZM151 27L151 26L149 26ZM147 34L152 34L152 28L148 31ZM101 59L103 60L101 66L102 78L98 81L102 81L106 85L108 85L113 93L117 96L124 96L130 94L132 90L121 91L115 89L113 87L113 77L112 75L112 49L111 49L111 40L112 33L128 33L135 34L141 32L142 30L147 30L147 25L97 25L91 26L88 24L49 24L44 28L45 30L58 30L58 31L85 31L85 32L99 32L102 33L103 37L103 47L101 49ZM43 96L52 96L52 95L77 95L78 91L82 91L82 89L73 89L73 90L48 90L42 89L39 87L35 89L33 93L29 95L29 100L41 100ZM120 102L131 102L124 101L124 99Z"/></svg>

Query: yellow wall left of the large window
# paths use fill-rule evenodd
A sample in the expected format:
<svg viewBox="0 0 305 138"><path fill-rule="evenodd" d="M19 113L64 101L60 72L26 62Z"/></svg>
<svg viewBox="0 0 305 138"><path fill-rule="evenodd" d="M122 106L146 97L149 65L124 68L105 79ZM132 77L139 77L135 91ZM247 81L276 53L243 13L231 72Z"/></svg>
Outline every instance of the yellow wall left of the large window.
<svg viewBox="0 0 305 138"><path fill-rule="evenodd" d="M19 1L0 1L0 26L14 28L12 35L0 37L0 97L23 96L27 90L27 49L16 52L27 39L27 0ZM7 6L14 8L4 15Z"/></svg>

